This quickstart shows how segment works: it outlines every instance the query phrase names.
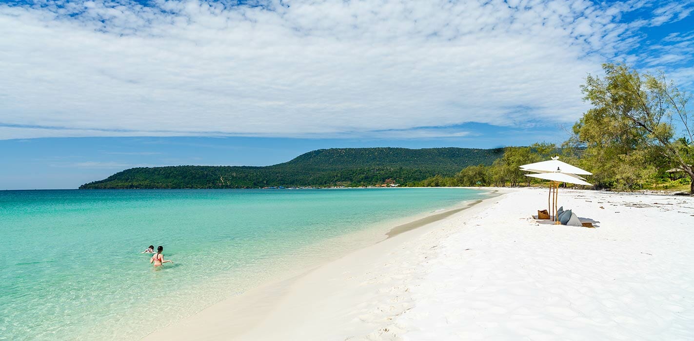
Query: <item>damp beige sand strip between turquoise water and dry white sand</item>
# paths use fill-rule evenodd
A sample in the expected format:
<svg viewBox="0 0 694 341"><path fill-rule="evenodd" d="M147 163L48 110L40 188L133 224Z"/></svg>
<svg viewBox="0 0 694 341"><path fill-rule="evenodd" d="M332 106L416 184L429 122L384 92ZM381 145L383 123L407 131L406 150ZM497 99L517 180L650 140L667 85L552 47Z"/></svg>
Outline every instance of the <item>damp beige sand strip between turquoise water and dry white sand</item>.
<svg viewBox="0 0 694 341"><path fill-rule="evenodd" d="M256 288L251 288L241 295L224 299L217 304L203 309L203 311L198 311L189 317L185 317L183 320L178 320L161 329L152 331L145 335L142 340L155 340L160 338L165 338L167 340L187 340L190 338L228 340L230 338L241 338L240 340L245 340L245 336L243 335L253 329L254 326L258 326L266 317L273 313L273 311L276 311L278 305L292 295L293 288L301 286L300 281L302 279L309 277L315 272L319 272L321 269L332 268L331 265L335 262L349 258L354 254L364 252L364 250L370 250L374 247L378 247L379 249L383 247L384 249L395 247L402 241L415 238L419 234L425 233L423 230L428 225L436 225L437 222L445 221L451 216L462 214L471 208L484 204L484 202L489 202L498 198L500 195L512 191L499 188L471 189L485 193L485 195L487 195L486 198L464 200L461 202L461 204L463 204L462 207L456 205L455 207L443 209L442 211L428 213L425 216L422 216L422 213L420 213L409 217L409 219L414 220L407 222L393 220L387 224L392 226L391 223L395 222L398 225L384 231L385 238L380 241L373 241L372 243L357 247L357 249L351 250L346 254L307 266L307 268L304 268L301 272L291 277L264 283ZM377 229L378 226L379 225L375 225L372 229ZM419 231L419 233L416 233L417 231ZM393 242L393 240L395 240L395 242ZM391 243L395 244L391 245ZM223 326L223 328L220 328L220 326Z"/></svg>

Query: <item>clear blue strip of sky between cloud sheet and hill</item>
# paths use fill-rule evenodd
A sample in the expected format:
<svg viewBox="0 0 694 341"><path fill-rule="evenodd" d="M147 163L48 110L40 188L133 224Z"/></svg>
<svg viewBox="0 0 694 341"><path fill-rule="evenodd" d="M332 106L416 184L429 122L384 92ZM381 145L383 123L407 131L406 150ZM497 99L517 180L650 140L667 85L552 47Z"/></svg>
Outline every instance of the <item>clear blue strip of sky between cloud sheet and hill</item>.
<svg viewBox="0 0 694 341"><path fill-rule="evenodd" d="M132 167L267 166L319 148L505 146L536 141L525 130L468 124L474 137L435 139L296 139L268 137L58 137L0 140L0 189L70 189Z"/></svg>

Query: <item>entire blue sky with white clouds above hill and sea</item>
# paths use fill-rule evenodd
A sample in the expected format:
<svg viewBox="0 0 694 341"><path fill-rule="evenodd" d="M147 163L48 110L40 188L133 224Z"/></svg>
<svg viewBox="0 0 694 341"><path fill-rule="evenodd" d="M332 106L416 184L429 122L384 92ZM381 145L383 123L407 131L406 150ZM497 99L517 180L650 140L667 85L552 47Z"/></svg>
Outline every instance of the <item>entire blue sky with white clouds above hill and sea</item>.
<svg viewBox="0 0 694 341"><path fill-rule="evenodd" d="M688 0L21 0L0 32L0 189L561 142L603 62L694 89Z"/></svg>

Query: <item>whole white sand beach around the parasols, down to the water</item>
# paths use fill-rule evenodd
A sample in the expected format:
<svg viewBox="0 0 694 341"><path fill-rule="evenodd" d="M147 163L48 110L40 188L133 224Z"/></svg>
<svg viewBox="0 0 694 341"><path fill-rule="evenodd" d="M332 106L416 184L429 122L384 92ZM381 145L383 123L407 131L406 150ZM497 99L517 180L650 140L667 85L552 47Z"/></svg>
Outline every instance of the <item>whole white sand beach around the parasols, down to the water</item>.
<svg viewBox="0 0 694 341"><path fill-rule="evenodd" d="M500 191L146 339L694 340L694 198Z"/></svg>

